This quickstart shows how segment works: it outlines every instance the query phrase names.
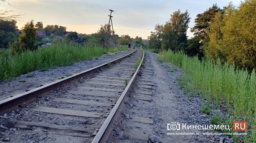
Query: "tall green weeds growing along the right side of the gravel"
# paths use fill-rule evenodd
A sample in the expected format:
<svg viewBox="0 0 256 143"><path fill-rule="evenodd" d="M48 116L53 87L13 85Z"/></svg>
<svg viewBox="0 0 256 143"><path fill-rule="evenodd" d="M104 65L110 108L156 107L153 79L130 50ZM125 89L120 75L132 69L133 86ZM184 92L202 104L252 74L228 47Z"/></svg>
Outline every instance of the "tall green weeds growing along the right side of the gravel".
<svg viewBox="0 0 256 143"><path fill-rule="evenodd" d="M233 121L248 121L250 138L245 142L256 142L256 75L255 71L238 70L234 65L221 65L220 61L199 61L184 53L161 52L159 60L173 63L183 69L181 82L190 95L200 94L212 108L226 106ZM231 122L231 120L229 121ZM232 123L229 123L232 125Z"/></svg>

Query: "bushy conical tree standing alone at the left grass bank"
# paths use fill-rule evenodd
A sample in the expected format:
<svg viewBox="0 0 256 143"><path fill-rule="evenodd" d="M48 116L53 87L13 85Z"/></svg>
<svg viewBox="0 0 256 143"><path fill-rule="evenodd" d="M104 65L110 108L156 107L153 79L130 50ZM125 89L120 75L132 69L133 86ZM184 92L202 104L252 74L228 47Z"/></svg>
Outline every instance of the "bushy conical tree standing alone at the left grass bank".
<svg viewBox="0 0 256 143"><path fill-rule="evenodd" d="M19 42L14 42L11 45L13 53L20 54L24 51L35 51L37 46L37 34L33 20L28 22L22 29L22 34L19 36Z"/></svg>

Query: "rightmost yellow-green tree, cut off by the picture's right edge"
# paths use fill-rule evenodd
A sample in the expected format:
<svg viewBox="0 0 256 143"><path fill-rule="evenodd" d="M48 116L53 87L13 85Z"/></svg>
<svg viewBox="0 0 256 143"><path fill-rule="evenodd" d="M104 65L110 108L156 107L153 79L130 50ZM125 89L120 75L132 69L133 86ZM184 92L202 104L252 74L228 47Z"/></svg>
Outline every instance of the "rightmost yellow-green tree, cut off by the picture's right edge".
<svg viewBox="0 0 256 143"><path fill-rule="evenodd" d="M241 68L256 69L256 0L245 0L236 9L225 9L221 28L221 48L230 63ZM225 47L225 48L224 48Z"/></svg>

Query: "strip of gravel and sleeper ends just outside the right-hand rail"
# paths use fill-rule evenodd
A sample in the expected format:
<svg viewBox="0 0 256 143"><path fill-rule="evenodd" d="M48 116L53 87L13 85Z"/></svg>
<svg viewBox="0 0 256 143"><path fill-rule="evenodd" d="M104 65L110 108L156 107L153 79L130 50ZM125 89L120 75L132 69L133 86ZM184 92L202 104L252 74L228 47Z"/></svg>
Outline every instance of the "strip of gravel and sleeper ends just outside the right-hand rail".
<svg viewBox="0 0 256 143"><path fill-rule="evenodd" d="M152 86L152 67L151 60L146 55L144 58L144 67L140 69L140 73L129 94L130 98L126 103L120 121L115 127L114 135L111 143L148 143L159 140L150 141L149 134L152 133L152 125L155 120L152 119L152 112L147 112L149 107L145 102L151 102ZM151 103L152 104L152 103ZM152 105L153 106L153 105Z"/></svg>

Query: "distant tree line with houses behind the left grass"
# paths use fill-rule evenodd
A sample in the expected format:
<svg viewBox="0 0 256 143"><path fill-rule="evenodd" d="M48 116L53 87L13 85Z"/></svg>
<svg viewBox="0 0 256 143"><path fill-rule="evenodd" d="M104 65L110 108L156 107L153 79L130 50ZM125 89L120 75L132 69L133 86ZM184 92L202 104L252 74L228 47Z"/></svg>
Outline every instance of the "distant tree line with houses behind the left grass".
<svg viewBox="0 0 256 143"><path fill-rule="evenodd" d="M19 31L15 20L0 20L0 48L11 48L13 54L20 54L24 51L35 51L38 46L46 42L36 34L36 31L44 31L45 38L52 38L55 35L63 37L64 40L74 41L80 44L93 44L105 48L114 47L114 41L118 45L127 45L129 42L134 42L137 45L144 45L141 37L131 38L129 35L121 35L119 37L110 29L111 25L100 25L96 33L92 34L78 34L73 31L66 31L66 27L59 25L47 25L43 28L42 22L31 20ZM109 29L109 30L108 30ZM108 31L108 32L107 32ZM108 34L107 34L108 33ZM106 36L107 35L107 36ZM107 38L107 40L106 40ZM114 40L115 39L115 40ZM105 42L106 45L105 45Z"/></svg>

